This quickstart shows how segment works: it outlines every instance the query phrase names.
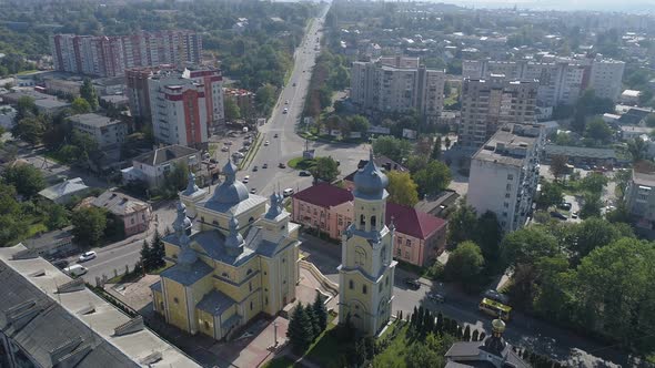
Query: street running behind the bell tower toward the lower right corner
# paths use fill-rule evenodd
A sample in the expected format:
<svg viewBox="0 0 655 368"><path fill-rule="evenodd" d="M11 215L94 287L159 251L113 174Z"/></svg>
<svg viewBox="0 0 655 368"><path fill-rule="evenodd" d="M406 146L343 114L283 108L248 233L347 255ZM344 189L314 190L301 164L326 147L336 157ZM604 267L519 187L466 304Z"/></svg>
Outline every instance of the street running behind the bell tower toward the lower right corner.
<svg viewBox="0 0 655 368"><path fill-rule="evenodd" d="M341 264L341 246L308 235L302 235L301 239L303 242L301 252L306 256L305 259L312 262L328 278L339 284L336 267ZM404 283L406 277L415 278L416 276L396 267L394 313L402 310L406 316L414 310L414 306L423 305L434 313L441 311L444 316L471 325L472 328L484 329L490 335L492 318L477 310L478 296L465 294L454 285L433 285L426 279L421 279L421 288L413 290L406 287ZM446 301L437 304L427 299L426 295L433 290L444 293ZM507 324L504 337L513 345L530 347L534 351L560 361L568 361L574 366L612 367L612 365L604 365L604 361L629 366L625 354L516 311ZM581 351L584 354L581 355Z"/></svg>

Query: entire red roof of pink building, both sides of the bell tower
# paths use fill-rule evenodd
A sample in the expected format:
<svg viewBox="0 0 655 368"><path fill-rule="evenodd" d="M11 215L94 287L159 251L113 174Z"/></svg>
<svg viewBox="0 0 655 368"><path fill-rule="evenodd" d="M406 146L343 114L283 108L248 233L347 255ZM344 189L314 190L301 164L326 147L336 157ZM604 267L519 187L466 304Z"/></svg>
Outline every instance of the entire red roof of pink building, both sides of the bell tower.
<svg viewBox="0 0 655 368"><path fill-rule="evenodd" d="M308 187L293 195L294 198L311 203L321 207L333 207L342 203L353 201L350 191L340 188L328 183L320 183ZM387 202L385 223L391 223L391 217L399 233L406 234L420 239L427 238L432 233L446 225L446 221L435 217L412 207Z"/></svg>

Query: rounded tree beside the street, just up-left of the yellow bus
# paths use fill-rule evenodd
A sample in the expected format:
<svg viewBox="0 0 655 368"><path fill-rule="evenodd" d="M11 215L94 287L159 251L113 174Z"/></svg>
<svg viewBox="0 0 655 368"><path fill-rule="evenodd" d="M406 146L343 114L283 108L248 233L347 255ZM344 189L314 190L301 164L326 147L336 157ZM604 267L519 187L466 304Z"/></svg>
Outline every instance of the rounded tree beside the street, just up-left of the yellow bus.
<svg viewBox="0 0 655 368"><path fill-rule="evenodd" d="M464 242L457 245L449 256L445 275L450 279L471 286L480 282L478 276L484 267L484 257L477 244Z"/></svg>

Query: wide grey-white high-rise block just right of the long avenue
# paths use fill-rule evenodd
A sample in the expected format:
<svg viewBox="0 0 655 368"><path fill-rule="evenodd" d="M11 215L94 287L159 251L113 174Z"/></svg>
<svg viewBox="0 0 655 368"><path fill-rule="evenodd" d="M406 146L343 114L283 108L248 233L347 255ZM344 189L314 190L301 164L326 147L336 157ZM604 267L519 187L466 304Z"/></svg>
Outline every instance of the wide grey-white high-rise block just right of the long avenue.
<svg viewBox="0 0 655 368"><path fill-rule="evenodd" d="M443 109L445 72L420 65L419 58L355 61L351 69L351 100L362 111L417 111L436 122Z"/></svg>

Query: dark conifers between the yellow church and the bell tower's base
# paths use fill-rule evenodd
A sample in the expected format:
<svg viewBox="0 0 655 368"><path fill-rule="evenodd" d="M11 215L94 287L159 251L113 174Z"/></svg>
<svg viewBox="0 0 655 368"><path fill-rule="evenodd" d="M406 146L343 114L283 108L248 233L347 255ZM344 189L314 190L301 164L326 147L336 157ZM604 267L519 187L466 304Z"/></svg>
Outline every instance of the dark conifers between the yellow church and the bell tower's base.
<svg viewBox="0 0 655 368"><path fill-rule="evenodd" d="M286 330L291 348L296 354L304 352L326 327L328 309L323 304L323 297L316 293L313 304L303 306L299 303L293 308Z"/></svg>

